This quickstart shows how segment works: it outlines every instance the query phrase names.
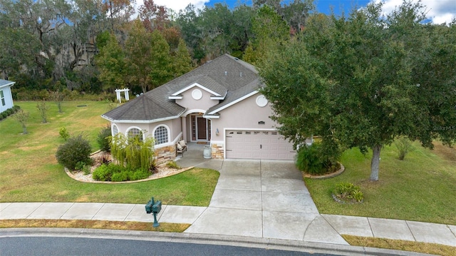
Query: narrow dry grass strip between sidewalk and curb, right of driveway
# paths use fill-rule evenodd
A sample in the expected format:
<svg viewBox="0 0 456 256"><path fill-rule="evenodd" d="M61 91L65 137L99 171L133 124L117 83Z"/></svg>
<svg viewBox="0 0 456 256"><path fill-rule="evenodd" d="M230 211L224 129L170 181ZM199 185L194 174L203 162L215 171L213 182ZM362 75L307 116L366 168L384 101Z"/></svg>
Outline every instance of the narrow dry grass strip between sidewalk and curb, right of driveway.
<svg viewBox="0 0 456 256"><path fill-rule="evenodd" d="M357 237L354 235L342 235L350 245L375 247L391 250L403 250L409 252L420 252L432 255L456 256L455 247L438 245L428 242L412 242L404 240L390 240L376 237Z"/></svg>

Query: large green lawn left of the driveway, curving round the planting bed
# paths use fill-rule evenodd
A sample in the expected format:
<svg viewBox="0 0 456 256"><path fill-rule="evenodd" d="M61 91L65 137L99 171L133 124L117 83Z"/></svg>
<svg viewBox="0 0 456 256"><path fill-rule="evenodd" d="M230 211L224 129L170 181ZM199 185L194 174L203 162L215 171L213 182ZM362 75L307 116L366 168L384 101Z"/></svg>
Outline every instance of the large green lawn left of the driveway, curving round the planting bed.
<svg viewBox="0 0 456 256"><path fill-rule="evenodd" d="M105 202L147 203L151 196L172 205L209 205L219 173L193 169L170 178L132 184L90 184L66 175L55 158L63 139L59 128L71 135L86 135L93 151L96 137L108 121L104 101L66 101L64 113L49 102L48 123L41 123L36 102L15 102L30 113L28 134L14 116L0 121L0 202Z"/></svg>

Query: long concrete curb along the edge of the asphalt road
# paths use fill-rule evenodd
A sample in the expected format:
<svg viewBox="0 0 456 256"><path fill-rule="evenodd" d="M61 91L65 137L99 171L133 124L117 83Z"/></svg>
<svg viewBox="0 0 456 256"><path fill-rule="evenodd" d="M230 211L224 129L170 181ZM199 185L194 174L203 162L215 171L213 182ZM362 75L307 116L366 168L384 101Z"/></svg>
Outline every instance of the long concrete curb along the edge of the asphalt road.
<svg viewBox="0 0 456 256"><path fill-rule="evenodd" d="M264 248L268 250L290 250L309 253L336 255L425 255L418 252L405 252L372 247L334 245L320 242L278 240L262 237L240 237L227 235L203 235L192 233L153 232L135 230L98 230L86 228L5 228L0 229L0 237L86 237L94 239L146 240L157 242L184 242L206 245L227 245Z"/></svg>

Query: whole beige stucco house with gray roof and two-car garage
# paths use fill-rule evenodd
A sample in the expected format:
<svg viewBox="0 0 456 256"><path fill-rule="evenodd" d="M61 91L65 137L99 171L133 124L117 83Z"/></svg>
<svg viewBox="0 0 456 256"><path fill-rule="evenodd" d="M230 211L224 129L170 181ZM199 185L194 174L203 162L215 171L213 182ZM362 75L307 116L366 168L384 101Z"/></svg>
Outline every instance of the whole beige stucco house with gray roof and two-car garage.
<svg viewBox="0 0 456 256"><path fill-rule="evenodd" d="M181 139L210 143L212 158L293 160L261 86L254 66L225 54L102 117L113 135L152 135L158 163L175 158Z"/></svg>

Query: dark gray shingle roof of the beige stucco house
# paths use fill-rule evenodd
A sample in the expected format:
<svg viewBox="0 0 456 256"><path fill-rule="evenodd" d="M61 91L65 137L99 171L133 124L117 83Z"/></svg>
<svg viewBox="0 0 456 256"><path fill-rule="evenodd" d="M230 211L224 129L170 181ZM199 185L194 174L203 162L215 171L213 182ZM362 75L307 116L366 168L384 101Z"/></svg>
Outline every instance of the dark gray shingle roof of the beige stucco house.
<svg viewBox="0 0 456 256"><path fill-rule="evenodd" d="M261 86L258 72L254 66L224 54L102 116L110 121L150 123L162 118L180 116L185 108L177 105L175 100L170 100L168 97L193 83L199 83L221 96L227 95L224 101L210 108L209 111L227 106Z"/></svg>

